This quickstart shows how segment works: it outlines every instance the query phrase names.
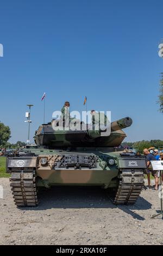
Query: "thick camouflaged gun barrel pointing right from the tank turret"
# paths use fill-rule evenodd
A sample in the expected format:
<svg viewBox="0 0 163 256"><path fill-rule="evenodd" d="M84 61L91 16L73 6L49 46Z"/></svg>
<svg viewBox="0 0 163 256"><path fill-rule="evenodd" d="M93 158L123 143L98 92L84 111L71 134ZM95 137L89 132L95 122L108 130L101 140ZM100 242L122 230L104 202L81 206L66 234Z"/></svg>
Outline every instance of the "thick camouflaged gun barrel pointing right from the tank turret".
<svg viewBox="0 0 163 256"><path fill-rule="evenodd" d="M118 131L131 126L133 120L130 117L125 117L111 123L111 131Z"/></svg>

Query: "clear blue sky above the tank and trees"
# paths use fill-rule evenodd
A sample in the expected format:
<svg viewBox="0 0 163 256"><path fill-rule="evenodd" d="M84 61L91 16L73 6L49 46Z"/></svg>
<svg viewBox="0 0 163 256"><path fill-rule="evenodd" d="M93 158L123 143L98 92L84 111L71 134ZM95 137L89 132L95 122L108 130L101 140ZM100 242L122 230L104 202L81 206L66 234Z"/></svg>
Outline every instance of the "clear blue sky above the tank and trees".
<svg viewBox="0 0 163 256"><path fill-rule="evenodd" d="M71 110L109 110L129 116L127 141L163 139L156 104L163 59L161 0L1 1L0 120L10 142L26 141L26 104L33 103L32 132L65 100Z"/></svg>

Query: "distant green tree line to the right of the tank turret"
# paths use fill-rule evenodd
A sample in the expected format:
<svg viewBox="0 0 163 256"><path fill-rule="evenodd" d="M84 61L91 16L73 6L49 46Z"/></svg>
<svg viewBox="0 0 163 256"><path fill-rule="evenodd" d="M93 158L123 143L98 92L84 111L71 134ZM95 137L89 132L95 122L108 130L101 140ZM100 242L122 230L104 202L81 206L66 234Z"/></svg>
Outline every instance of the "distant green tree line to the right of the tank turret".
<svg viewBox="0 0 163 256"><path fill-rule="evenodd" d="M163 141L160 139L152 139L151 141L123 142L122 147L134 148L136 151L142 153L145 148L154 147L156 149L163 149Z"/></svg>

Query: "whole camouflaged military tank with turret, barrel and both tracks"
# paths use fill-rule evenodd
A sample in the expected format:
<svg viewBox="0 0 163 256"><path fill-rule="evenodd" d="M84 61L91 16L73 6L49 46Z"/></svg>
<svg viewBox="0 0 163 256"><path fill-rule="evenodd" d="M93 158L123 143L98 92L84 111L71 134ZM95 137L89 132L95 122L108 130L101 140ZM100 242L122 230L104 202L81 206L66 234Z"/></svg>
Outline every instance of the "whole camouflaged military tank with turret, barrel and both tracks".
<svg viewBox="0 0 163 256"><path fill-rule="evenodd" d="M143 186L143 157L118 148L132 124L129 117L111 123L109 136L89 125L80 130L55 130L58 120L39 126L33 147L7 159L7 172L17 206L36 206L40 187L101 186L116 205L134 204Z"/></svg>

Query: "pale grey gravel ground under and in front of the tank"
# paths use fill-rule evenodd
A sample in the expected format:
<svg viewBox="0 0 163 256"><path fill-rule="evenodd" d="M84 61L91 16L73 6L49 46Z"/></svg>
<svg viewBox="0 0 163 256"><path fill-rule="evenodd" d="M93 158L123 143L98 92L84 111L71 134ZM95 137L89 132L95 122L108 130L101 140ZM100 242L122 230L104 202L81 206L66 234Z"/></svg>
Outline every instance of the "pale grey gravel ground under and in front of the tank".
<svg viewBox="0 0 163 256"><path fill-rule="evenodd" d="M143 190L133 206L115 206L98 187L53 187L36 208L16 208L9 179L0 179L1 245L163 245L158 192Z"/></svg>

